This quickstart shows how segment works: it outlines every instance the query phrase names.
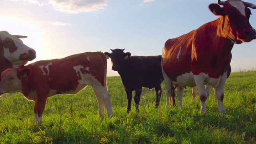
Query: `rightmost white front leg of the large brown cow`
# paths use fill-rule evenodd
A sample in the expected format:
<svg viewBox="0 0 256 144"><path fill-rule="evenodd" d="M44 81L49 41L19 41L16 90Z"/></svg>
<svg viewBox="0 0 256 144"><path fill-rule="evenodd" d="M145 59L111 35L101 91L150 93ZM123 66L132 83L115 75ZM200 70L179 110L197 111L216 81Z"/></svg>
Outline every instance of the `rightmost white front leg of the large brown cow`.
<svg viewBox="0 0 256 144"><path fill-rule="evenodd" d="M225 108L224 108L224 103L223 103L224 86L225 86L225 83L226 83L226 79L227 79L226 74L223 74L220 78L220 82L219 82L218 86L216 87L216 92L215 92L216 98L218 100L218 108L219 108L220 113L226 111Z"/></svg>

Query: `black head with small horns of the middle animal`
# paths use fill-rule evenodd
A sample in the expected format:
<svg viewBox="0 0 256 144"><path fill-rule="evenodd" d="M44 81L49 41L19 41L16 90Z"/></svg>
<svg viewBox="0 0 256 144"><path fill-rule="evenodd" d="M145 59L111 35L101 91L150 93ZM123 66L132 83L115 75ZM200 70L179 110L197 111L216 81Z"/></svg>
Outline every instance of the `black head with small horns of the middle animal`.
<svg viewBox="0 0 256 144"><path fill-rule="evenodd" d="M110 49L111 50L111 49ZM112 62L112 70L119 71L123 67L124 60L128 60L129 57L132 55L130 52L124 53L124 49L114 49L111 50L112 53L104 52L107 58L111 58Z"/></svg>

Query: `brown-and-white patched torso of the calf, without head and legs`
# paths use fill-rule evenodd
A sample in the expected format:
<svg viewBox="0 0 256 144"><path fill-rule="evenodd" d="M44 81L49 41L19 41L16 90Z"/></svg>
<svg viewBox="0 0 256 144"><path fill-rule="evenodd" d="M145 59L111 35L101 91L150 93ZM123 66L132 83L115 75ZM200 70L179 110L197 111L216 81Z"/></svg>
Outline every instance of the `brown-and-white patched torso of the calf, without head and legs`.
<svg viewBox="0 0 256 144"><path fill-rule="evenodd" d="M42 60L27 66L30 74L30 90L53 90L54 94L73 94L88 82L104 83L106 56L102 52L85 52L62 59ZM78 88L79 85L79 88Z"/></svg>

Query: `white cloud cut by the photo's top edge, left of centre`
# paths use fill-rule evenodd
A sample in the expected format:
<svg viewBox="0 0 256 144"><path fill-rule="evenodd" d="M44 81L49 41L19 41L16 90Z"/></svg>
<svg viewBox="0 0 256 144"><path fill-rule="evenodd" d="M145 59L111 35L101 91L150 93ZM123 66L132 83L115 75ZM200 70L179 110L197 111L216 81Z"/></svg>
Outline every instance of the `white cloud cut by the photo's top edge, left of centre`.
<svg viewBox="0 0 256 144"><path fill-rule="evenodd" d="M91 12L104 10L107 0L50 0L55 10L68 13Z"/></svg>

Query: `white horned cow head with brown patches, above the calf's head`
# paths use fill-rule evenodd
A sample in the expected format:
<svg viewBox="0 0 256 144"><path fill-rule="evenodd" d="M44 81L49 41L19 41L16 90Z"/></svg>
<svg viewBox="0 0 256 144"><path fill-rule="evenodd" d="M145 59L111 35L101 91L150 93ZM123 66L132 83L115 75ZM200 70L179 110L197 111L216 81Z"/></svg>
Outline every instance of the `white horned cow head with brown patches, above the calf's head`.
<svg viewBox="0 0 256 144"><path fill-rule="evenodd" d="M6 31L0 31L0 66L11 64L11 67L19 66L26 61L36 58L36 51L25 44L19 38L27 36L11 35Z"/></svg>

